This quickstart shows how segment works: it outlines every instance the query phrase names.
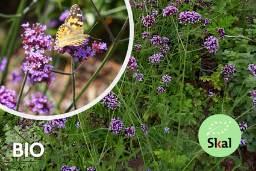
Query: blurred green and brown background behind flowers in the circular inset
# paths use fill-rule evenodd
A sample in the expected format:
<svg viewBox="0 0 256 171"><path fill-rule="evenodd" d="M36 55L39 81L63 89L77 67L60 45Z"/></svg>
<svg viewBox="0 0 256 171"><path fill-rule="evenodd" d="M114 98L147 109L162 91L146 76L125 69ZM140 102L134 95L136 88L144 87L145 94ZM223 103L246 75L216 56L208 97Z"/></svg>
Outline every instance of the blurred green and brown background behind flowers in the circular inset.
<svg viewBox="0 0 256 171"><path fill-rule="evenodd" d="M16 14L20 3L24 3L24 10L20 14ZM114 37L117 36L120 29L123 26L126 18L128 17L126 6L124 1L93 1L96 7L104 18ZM93 8L90 1L1 1L0 2L0 51L2 56L8 56L8 50L5 53L3 49L5 48L5 42L7 40L8 31L10 30L11 23L14 20L18 20L19 26L17 28L17 33L11 35L11 39L15 37L14 43L9 43L7 48L13 49L10 53L10 62L8 64L7 76L3 78L2 73L0 73L1 80L4 79L6 89L13 89L16 94L19 94L20 86L23 80L23 73L19 69L23 62L25 62L26 55L24 54L24 49L22 48L22 38L20 34L24 33L22 23L29 22L30 25L33 23L41 23L47 26L45 34L51 34L55 40L55 35L57 33L58 27L64 23L60 20L61 14L65 10L70 10L73 4L78 4L81 11L85 17L84 20L84 34L88 34L89 30L98 22L95 27L90 31L90 36L95 37L99 40L90 39L89 45L91 46L94 41L96 43L105 42L107 43L107 48L111 47L111 39L104 25L102 25L98 14ZM14 29L15 31L15 29ZM126 26L125 31L123 31L120 39L126 39L129 37L129 24ZM101 95L102 92L111 84L113 79L116 77L117 73L122 66L123 60L125 59L126 51L128 49L128 40L122 43L118 43L113 51L113 54L105 63L104 67L101 69L99 74L89 85L86 92L83 93L81 98L76 102L76 107L80 108L89 102L93 101L96 97ZM91 78L96 69L101 65L102 60L104 60L108 51L102 54L96 54L95 57L90 58L84 66L78 70L75 74L75 92L76 96L81 92L83 87L87 84L88 80ZM71 56L67 53L57 54L57 51L52 48L52 51L45 53L46 56L52 57L52 62L50 64L54 65L55 70L61 72L70 72L70 61ZM1 57L2 58L2 57ZM76 62L75 66L79 66ZM76 68L75 67L75 68ZM22 79L14 83L12 74L13 70L22 74ZM72 85L70 81L70 76L57 74L55 81L53 82L53 87L49 87L45 82L40 82L36 85L25 86L23 92L23 99L20 102L20 110L28 114L31 113L26 107L23 107L23 103L30 98L32 93L37 91L44 93L49 101L53 101L54 109L51 109L51 114L61 114L64 113L67 108L72 104ZM72 108L73 110L73 108Z"/></svg>

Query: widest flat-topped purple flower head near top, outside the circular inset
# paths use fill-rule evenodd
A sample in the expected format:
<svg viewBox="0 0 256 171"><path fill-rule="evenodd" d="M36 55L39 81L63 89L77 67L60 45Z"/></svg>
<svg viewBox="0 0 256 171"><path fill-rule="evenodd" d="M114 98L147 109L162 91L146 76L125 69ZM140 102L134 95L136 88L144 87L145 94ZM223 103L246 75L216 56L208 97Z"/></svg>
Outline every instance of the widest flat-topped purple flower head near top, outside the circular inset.
<svg viewBox="0 0 256 171"><path fill-rule="evenodd" d="M178 19L180 20L180 23L185 22L185 25L187 25L187 23L200 22L200 19L202 19L202 16L196 13L195 11L185 11L180 13Z"/></svg>

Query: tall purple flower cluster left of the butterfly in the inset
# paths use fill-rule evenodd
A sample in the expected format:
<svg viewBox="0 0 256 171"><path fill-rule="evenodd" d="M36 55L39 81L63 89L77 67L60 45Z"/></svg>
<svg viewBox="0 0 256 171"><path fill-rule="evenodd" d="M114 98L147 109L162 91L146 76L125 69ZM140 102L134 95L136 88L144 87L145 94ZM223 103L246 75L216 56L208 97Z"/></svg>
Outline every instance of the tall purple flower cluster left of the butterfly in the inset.
<svg viewBox="0 0 256 171"><path fill-rule="evenodd" d="M49 65L49 61L52 60L51 57L46 57L43 54L45 50L51 51L52 39L51 35L45 35L43 31L46 30L45 25L40 25L40 23L33 24L30 28L29 23L23 23L23 28L25 29L25 34L22 34L23 48L25 48L26 62L20 67L25 73L29 70L29 76L33 82L46 81L48 85L51 85L55 80L55 74L50 72L53 66ZM23 37L24 36L24 37Z"/></svg>

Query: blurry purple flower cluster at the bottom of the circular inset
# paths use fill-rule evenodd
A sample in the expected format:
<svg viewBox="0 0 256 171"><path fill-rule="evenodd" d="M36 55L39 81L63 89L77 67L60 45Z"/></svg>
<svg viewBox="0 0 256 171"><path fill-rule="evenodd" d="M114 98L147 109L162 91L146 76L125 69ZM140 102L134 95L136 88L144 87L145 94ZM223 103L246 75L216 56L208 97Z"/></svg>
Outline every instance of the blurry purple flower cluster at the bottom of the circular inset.
<svg viewBox="0 0 256 171"><path fill-rule="evenodd" d="M36 94L31 95L31 99L25 101L24 105L28 107L31 111L35 113L50 113L50 109L54 107L52 101L48 102L48 99L43 93L36 92Z"/></svg>

